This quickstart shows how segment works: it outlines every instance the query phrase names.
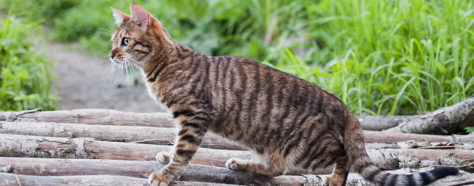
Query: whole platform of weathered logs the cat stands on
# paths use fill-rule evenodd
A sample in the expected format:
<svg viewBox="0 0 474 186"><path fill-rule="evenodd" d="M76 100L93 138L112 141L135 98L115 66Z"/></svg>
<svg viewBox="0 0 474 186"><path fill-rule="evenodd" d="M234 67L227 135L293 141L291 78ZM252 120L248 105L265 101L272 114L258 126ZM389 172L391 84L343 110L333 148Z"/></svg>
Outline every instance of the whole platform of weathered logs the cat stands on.
<svg viewBox="0 0 474 186"><path fill-rule="evenodd" d="M376 166L398 174L428 171L441 165L459 166L464 170L461 176L432 185L474 184L471 174L474 172L474 134L453 134L459 131L455 129L474 126L474 98L466 100L468 103L462 102L468 104L462 107L464 113L454 112L463 116L452 116L452 109L443 108L446 109L443 112L420 116L360 117L363 127L367 121L391 122L385 128L392 128L390 133L364 131L370 158ZM155 155L169 151L173 145L176 130L171 120L171 114L167 113L106 109L2 112L0 186L146 185L148 175L163 167ZM400 125L393 125L397 120ZM431 125L426 120L435 126L428 127L432 133L450 135L400 133L411 131L410 123ZM371 126L374 125L365 125L369 129ZM419 126L415 128L421 130ZM313 173L289 171L284 176L268 178L225 168L230 158L253 158L250 152L233 142L208 134L201 147L175 185L318 186L332 171L332 168ZM369 184L351 173L347 185Z"/></svg>

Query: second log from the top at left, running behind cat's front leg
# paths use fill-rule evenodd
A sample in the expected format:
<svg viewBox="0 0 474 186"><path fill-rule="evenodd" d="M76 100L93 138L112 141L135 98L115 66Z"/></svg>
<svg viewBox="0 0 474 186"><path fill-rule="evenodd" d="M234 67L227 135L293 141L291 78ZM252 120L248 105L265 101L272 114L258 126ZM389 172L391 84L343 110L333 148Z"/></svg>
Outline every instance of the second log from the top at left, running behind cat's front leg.
<svg viewBox="0 0 474 186"><path fill-rule="evenodd" d="M175 128L135 127L113 125L87 125L48 122L0 122L0 133L32 136L88 137L100 141L140 142L145 144L173 145ZM234 142L208 133L201 147L226 150L245 150Z"/></svg>

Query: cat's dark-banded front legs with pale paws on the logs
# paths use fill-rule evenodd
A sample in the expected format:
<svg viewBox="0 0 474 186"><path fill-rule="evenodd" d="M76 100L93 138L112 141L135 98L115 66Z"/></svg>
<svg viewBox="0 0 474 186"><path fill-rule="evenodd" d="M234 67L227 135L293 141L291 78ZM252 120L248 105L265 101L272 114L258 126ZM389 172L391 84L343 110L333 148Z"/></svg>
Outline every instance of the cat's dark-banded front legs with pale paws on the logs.
<svg viewBox="0 0 474 186"><path fill-rule="evenodd" d="M176 117L176 115L175 115ZM150 175L148 182L152 186L169 186L189 164L199 148L204 135L207 132L208 123L202 117L183 116L177 118L179 122L179 133L176 138L174 150L171 156L167 153L159 153L158 161L168 163L160 172Z"/></svg>

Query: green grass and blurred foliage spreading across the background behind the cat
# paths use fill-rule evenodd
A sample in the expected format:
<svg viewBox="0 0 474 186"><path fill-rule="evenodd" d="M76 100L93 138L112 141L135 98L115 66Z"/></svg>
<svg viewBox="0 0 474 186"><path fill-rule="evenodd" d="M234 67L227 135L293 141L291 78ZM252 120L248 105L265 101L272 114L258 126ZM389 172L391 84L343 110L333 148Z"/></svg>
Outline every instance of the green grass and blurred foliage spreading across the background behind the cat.
<svg viewBox="0 0 474 186"><path fill-rule="evenodd" d="M473 0L137 2L177 42L274 66L335 92L356 114L420 114L474 95ZM55 40L107 54L110 6L129 13L130 1L0 3L44 17Z"/></svg>

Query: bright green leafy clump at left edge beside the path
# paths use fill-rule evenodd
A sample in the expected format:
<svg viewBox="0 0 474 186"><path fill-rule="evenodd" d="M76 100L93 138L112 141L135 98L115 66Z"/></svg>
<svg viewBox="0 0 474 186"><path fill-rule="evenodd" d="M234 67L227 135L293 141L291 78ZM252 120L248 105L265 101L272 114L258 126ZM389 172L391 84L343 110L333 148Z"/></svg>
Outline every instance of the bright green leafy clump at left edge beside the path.
<svg viewBox="0 0 474 186"><path fill-rule="evenodd" d="M0 111L56 108L52 64L31 49L37 30L14 17L0 22Z"/></svg>

